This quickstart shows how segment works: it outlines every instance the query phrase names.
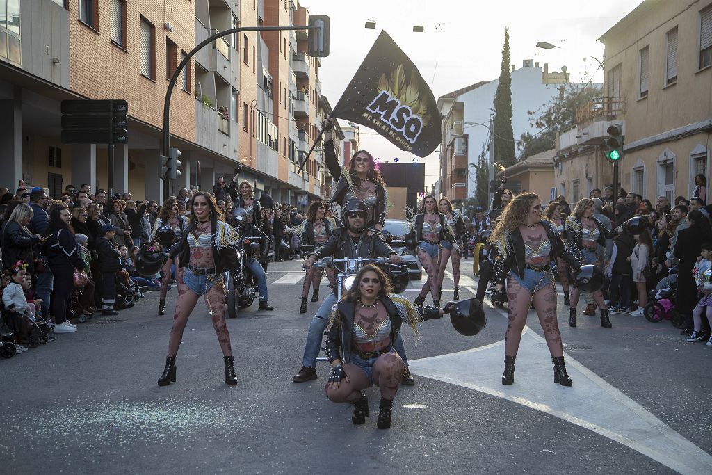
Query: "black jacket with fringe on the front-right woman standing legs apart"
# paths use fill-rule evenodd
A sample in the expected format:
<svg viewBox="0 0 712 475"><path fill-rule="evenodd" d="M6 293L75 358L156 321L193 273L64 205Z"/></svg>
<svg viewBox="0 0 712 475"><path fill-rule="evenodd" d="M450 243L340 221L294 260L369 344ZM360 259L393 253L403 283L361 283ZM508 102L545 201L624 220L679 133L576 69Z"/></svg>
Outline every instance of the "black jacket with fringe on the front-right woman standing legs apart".
<svg viewBox="0 0 712 475"><path fill-rule="evenodd" d="M572 254L561 236L556 231L556 228L549 221L539 221L539 224L544 226L546 236L551 241L550 261L555 262L557 258L563 259L573 269L581 266L581 263L574 254ZM503 284L509 271L514 271L520 278L524 278L524 239L519 229L509 231L506 236L506 253L499 249L499 256L494 265L493 282L495 284Z"/></svg>

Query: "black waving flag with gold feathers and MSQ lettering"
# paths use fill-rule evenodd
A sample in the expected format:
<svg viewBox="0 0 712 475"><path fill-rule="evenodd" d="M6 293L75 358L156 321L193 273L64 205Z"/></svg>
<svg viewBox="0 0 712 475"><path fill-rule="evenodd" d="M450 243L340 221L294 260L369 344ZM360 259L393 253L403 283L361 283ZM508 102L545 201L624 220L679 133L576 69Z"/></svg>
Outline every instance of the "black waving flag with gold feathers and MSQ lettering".
<svg viewBox="0 0 712 475"><path fill-rule="evenodd" d="M370 127L418 157L430 155L442 141L442 115L432 91L385 31L381 31L332 115Z"/></svg>

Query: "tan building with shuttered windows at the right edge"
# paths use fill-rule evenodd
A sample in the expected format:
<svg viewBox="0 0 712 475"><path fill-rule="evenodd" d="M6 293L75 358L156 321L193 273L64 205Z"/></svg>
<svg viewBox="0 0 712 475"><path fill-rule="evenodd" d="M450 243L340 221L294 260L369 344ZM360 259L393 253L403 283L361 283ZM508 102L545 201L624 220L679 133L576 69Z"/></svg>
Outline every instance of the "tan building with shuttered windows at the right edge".
<svg viewBox="0 0 712 475"><path fill-rule="evenodd" d="M600 41L604 95L624 98L621 186L690 197L709 176L712 1L643 1Z"/></svg>

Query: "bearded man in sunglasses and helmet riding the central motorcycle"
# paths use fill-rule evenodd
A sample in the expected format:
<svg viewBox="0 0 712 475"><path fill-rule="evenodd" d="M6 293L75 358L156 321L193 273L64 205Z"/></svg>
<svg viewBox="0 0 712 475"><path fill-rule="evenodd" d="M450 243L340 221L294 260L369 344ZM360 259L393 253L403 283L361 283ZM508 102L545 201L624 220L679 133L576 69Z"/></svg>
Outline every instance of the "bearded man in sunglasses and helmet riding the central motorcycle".
<svg viewBox="0 0 712 475"><path fill-rule="evenodd" d="M368 207L364 202L358 199L352 199L347 202L343 209L342 217L346 227L335 229L323 246L320 246L307 256L307 259L303 262L303 266L307 269L311 268L315 261L327 256L333 256L334 259L359 256L364 258L388 257L392 263L400 263L402 261L401 257L396 254L396 251L394 251L391 246L385 243L380 233L369 236L365 231L367 216ZM305 382L316 379L316 357L319 355L324 330L329 323L329 315L331 315L331 310L335 303L336 295L332 291L332 293L324 299L312 319L307 335L307 343L304 348L302 368L292 378L293 382ZM405 350L402 348L402 340L398 339L394 342L394 345L396 345L400 355L405 359Z"/></svg>

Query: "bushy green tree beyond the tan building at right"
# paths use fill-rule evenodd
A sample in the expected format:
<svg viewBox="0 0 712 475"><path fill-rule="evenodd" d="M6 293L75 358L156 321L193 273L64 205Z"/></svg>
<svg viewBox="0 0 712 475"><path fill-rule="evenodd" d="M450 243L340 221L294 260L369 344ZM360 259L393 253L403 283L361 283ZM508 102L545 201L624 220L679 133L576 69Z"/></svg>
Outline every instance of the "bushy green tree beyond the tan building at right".
<svg viewBox="0 0 712 475"><path fill-rule="evenodd" d="M517 142L518 160L536 155L556 146L556 133L565 132L576 125L576 110L600 97L600 86L590 83L562 84L555 98L542 104L538 110L529 110L529 125L540 132L525 132Z"/></svg>

